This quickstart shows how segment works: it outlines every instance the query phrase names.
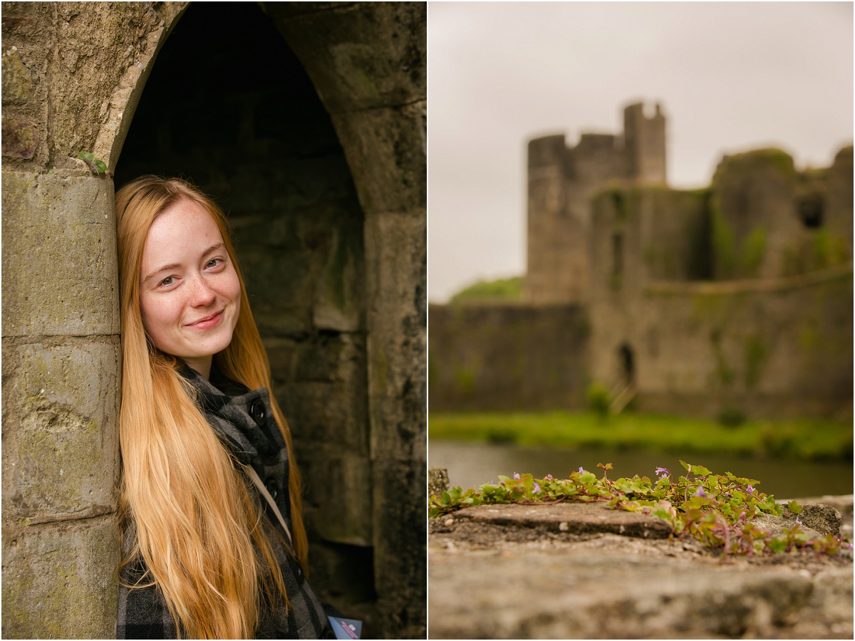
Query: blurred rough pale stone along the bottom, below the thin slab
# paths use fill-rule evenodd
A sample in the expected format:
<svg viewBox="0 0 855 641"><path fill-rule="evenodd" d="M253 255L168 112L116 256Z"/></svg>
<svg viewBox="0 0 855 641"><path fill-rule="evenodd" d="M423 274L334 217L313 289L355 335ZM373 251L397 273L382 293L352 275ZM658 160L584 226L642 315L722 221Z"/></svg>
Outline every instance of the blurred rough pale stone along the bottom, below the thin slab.
<svg viewBox="0 0 855 641"><path fill-rule="evenodd" d="M513 546L431 550L428 585L431 638L852 638L852 567Z"/></svg>

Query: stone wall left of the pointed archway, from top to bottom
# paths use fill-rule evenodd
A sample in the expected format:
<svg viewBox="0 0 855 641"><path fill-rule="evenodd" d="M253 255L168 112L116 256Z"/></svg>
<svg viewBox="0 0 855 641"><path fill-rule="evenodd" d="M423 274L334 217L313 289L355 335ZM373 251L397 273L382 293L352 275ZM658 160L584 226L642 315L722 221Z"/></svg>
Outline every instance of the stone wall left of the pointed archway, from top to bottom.
<svg viewBox="0 0 855 641"><path fill-rule="evenodd" d="M3 637L115 635L112 166L181 3L3 3ZM49 173L50 172L50 173Z"/></svg>

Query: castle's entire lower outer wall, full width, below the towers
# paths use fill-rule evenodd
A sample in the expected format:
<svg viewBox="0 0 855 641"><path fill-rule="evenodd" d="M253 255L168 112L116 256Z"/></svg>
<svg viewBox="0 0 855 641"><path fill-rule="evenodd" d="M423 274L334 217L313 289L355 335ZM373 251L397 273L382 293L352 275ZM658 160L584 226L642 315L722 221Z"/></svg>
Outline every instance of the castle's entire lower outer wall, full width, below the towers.
<svg viewBox="0 0 855 641"><path fill-rule="evenodd" d="M590 310L431 305L429 322L431 411L585 409L589 383L622 378L626 345L635 409L852 416L847 265L764 282L649 281Z"/></svg>

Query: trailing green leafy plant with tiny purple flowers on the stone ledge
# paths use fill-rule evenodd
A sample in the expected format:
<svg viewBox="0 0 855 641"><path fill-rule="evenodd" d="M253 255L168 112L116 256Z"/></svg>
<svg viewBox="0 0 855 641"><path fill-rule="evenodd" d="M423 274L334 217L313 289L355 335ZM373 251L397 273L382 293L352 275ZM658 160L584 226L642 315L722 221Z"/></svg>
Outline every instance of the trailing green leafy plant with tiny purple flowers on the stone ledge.
<svg viewBox="0 0 855 641"><path fill-rule="evenodd" d="M611 463L598 463L603 477L579 468L569 479L534 479L515 473L498 477L498 485L485 484L462 491L455 487L428 500L428 515L439 517L457 509L486 503L550 504L562 501L604 502L611 509L625 509L668 521L672 538L691 537L722 555L764 555L781 552L814 551L835 555L844 542L831 534L811 535L796 518L796 525L773 534L752 523L759 515L781 516L783 510L772 495L758 491L755 479L732 473L714 474L702 465L681 461L684 476L675 477L665 468L656 468L657 479L635 475L631 479L609 479ZM801 507L788 506L793 515ZM848 544L852 548L852 544Z"/></svg>

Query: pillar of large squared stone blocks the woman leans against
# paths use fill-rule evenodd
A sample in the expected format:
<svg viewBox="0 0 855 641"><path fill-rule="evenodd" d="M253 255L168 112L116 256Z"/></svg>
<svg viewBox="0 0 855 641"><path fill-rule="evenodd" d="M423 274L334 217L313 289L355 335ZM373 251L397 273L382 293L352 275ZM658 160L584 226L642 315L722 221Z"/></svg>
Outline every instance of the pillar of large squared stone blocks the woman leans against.
<svg viewBox="0 0 855 641"><path fill-rule="evenodd" d="M3 171L3 636L115 635L113 185Z"/></svg>

